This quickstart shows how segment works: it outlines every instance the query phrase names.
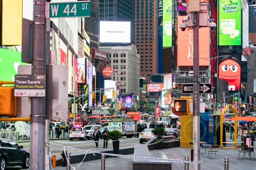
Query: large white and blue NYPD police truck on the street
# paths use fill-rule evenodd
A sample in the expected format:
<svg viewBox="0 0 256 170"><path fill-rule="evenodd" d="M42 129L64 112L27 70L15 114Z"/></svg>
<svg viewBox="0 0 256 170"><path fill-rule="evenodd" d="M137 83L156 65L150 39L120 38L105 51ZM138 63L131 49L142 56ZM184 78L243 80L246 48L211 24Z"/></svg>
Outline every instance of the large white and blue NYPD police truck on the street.
<svg viewBox="0 0 256 170"><path fill-rule="evenodd" d="M137 134L137 121L132 118L116 118L111 122L106 122L101 125L107 127L109 131L118 130L122 136L131 138Z"/></svg>

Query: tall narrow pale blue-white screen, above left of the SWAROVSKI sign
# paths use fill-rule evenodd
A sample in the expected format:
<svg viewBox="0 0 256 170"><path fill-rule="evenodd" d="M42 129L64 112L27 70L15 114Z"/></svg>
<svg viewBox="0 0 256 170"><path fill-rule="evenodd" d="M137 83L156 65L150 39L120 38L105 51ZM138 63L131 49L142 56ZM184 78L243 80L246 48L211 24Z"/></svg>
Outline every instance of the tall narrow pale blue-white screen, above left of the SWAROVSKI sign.
<svg viewBox="0 0 256 170"><path fill-rule="evenodd" d="M92 63L88 59L86 59L86 83L89 92L92 92ZM92 106L92 93L89 93L88 105Z"/></svg>

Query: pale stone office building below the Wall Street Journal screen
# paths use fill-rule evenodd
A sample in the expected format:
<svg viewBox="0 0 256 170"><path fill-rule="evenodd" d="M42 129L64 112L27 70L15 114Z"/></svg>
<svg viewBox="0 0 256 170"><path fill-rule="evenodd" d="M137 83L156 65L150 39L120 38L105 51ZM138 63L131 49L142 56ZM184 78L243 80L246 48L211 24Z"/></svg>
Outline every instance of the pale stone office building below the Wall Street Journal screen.
<svg viewBox="0 0 256 170"><path fill-rule="evenodd" d="M135 45L117 47L99 47L99 50L107 52L109 67L115 72L111 75L111 80L120 82L123 100L126 94L133 93L133 104L139 106L140 95L140 55L137 54ZM138 96L138 97L137 97Z"/></svg>

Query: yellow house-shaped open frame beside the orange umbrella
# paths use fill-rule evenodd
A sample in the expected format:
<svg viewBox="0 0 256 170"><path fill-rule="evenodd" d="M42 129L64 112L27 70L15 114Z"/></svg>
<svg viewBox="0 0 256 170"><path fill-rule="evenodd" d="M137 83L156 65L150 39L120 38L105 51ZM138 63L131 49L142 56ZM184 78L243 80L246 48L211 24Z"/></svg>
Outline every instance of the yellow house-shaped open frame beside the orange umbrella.
<svg viewBox="0 0 256 170"><path fill-rule="evenodd" d="M222 142L222 137L223 137L223 115L225 113L225 111L228 109L228 107L233 111L233 113L235 114L235 117L237 117L237 113L235 111L235 109L229 104L227 105L222 112L220 113L220 147L221 148L225 148L225 149L236 149L236 144L237 144L237 121L235 121L235 136L234 136L234 142ZM228 114L225 114L228 115ZM223 147L223 143L224 144L234 144L234 147Z"/></svg>

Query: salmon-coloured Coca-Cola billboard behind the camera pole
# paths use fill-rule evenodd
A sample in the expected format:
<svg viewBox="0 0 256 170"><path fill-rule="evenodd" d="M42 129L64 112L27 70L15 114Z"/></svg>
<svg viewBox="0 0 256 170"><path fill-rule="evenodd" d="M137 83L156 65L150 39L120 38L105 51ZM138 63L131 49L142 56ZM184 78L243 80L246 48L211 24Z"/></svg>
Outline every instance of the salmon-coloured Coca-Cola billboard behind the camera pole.
<svg viewBox="0 0 256 170"><path fill-rule="evenodd" d="M178 16L178 26L182 23L182 19L187 19L187 16ZM209 65L210 53L210 30L208 27L199 28L199 65ZM181 31L178 28L178 66L193 66L194 44L193 44L193 29Z"/></svg>

